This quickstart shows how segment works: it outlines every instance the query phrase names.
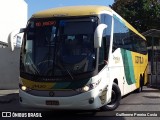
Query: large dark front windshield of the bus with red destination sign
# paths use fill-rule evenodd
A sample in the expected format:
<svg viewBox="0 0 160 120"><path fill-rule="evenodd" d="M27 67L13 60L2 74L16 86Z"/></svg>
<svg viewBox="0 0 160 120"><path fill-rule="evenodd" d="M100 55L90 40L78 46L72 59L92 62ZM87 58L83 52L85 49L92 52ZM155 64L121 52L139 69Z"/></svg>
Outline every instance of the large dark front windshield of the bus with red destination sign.
<svg viewBox="0 0 160 120"><path fill-rule="evenodd" d="M91 72L96 67L94 17L32 19L24 35L21 72L64 76Z"/></svg>

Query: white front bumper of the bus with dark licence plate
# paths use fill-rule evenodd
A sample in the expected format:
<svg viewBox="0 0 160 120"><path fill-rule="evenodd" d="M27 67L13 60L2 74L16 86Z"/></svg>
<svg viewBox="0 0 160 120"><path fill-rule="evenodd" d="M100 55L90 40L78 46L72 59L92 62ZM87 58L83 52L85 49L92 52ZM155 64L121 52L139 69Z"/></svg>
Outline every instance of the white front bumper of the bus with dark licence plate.
<svg viewBox="0 0 160 120"><path fill-rule="evenodd" d="M70 97L41 97L28 94L19 89L19 98L22 106L47 109L79 109L91 110L102 106L99 93L88 91Z"/></svg>

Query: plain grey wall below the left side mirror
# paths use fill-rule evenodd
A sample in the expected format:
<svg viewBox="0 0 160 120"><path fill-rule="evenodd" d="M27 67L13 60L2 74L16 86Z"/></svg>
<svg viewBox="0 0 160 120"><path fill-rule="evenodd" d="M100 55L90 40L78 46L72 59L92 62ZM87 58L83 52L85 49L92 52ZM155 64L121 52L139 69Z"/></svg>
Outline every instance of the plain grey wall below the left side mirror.
<svg viewBox="0 0 160 120"><path fill-rule="evenodd" d="M0 90L18 88L19 54L19 48L14 52L10 48L0 49Z"/></svg>

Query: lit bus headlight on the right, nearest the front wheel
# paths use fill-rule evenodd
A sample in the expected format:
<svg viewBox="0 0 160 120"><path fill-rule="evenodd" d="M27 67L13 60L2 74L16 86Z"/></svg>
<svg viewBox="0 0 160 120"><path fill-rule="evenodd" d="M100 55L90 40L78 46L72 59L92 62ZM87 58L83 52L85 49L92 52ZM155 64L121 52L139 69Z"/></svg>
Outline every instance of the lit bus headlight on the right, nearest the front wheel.
<svg viewBox="0 0 160 120"><path fill-rule="evenodd" d="M101 81L101 79L98 80L96 83L91 83L91 84L85 85L82 88L76 89L76 91L78 91L78 92L87 92L89 90L92 90L92 89L96 88L99 85L100 81Z"/></svg>

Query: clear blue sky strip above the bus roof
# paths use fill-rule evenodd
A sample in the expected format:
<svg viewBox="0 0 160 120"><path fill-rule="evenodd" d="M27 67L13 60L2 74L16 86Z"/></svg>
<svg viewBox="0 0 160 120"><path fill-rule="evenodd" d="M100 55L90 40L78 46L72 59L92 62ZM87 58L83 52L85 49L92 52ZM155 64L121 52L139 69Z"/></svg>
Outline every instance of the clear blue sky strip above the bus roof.
<svg viewBox="0 0 160 120"><path fill-rule="evenodd" d="M55 7L73 5L112 5L114 0L25 0L28 4L28 19L32 14Z"/></svg>

